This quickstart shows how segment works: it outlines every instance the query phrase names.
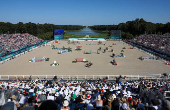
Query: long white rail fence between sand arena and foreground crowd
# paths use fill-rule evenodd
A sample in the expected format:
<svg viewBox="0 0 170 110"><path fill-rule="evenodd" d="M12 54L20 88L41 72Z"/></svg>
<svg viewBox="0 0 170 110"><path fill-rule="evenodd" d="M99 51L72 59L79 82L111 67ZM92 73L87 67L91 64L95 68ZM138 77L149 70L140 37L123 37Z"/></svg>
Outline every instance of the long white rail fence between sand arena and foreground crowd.
<svg viewBox="0 0 170 110"><path fill-rule="evenodd" d="M29 78L31 76L32 79L37 78L45 78L52 79L54 76L62 79L102 79L108 77L108 79L115 79L115 77L119 77L120 75L0 75L0 80L9 80L10 78ZM151 75L121 75L122 77L126 76L126 79L140 79L140 78L149 78L149 79L159 79L161 74L151 74Z"/></svg>

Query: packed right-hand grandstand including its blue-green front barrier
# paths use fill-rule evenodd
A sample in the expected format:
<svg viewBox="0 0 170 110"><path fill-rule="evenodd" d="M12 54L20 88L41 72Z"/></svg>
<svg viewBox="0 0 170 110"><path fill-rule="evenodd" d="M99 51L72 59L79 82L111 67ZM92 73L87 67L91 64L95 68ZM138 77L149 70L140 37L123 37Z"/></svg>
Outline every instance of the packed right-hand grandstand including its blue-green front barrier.
<svg viewBox="0 0 170 110"><path fill-rule="evenodd" d="M170 34L164 35L146 34L141 35L133 40L128 41L129 44L141 48L153 55L170 61Z"/></svg>

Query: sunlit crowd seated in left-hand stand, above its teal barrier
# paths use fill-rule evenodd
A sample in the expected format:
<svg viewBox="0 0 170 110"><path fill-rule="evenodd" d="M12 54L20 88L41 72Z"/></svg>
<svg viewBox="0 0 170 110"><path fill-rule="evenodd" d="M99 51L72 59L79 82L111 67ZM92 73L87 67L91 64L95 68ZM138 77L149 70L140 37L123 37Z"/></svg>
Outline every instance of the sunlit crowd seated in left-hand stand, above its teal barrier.
<svg viewBox="0 0 170 110"><path fill-rule="evenodd" d="M30 46L43 41L33 35L26 34L1 34L0 35L0 57L7 52L17 51L24 46Z"/></svg>

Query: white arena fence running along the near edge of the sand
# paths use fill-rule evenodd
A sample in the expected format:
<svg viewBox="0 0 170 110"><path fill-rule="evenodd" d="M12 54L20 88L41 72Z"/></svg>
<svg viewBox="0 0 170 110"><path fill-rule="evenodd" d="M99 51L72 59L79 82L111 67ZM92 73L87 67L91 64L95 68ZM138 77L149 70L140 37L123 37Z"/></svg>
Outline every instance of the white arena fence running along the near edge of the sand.
<svg viewBox="0 0 170 110"><path fill-rule="evenodd" d="M57 76L57 79L63 80L99 80L107 78L108 80L116 80L120 75L0 75L0 80L30 80L39 79L39 80L52 80L54 76ZM161 74L151 74L151 75L121 75L124 80L138 80L142 79L161 79Z"/></svg>

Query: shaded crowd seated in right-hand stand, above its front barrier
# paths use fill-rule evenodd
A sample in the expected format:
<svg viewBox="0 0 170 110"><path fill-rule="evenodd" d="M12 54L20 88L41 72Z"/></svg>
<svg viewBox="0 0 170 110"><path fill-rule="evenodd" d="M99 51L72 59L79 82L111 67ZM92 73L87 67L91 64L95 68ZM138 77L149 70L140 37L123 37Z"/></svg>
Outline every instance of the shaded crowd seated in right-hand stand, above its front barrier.
<svg viewBox="0 0 170 110"><path fill-rule="evenodd" d="M132 41L168 54L170 53L170 33L164 35L144 34L134 38Z"/></svg>

